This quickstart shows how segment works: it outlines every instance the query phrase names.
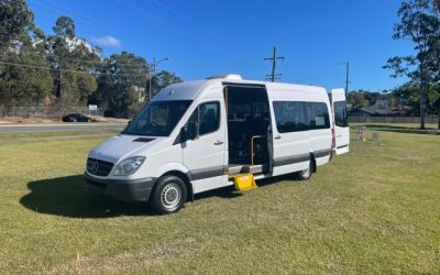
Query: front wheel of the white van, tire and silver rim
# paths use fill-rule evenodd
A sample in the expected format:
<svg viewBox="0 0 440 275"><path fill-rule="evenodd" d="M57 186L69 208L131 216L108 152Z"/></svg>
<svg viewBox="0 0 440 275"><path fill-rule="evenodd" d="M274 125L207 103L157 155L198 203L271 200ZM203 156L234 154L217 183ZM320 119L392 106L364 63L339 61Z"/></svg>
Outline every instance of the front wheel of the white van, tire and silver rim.
<svg viewBox="0 0 440 275"><path fill-rule="evenodd" d="M186 185L179 177L164 176L157 180L152 195L150 205L160 215L174 213L186 202Z"/></svg>

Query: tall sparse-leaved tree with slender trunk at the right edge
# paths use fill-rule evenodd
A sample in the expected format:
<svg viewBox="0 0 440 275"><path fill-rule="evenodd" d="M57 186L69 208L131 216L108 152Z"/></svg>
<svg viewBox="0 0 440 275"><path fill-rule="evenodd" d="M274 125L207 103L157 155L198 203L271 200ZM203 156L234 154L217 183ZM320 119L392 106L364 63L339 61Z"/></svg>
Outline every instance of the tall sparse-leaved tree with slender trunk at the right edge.
<svg viewBox="0 0 440 275"><path fill-rule="evenodd" d="M435 80L438 63L432 46L440 37L440 20L435 14L432 1L408 0L400 4L397 12L400 22L394 26L393 38L410 40L415 44L415 55L394 56L384 66L395 72L392 77L407 76L419 86L420 129L425 129L427 91Z"/></svg>

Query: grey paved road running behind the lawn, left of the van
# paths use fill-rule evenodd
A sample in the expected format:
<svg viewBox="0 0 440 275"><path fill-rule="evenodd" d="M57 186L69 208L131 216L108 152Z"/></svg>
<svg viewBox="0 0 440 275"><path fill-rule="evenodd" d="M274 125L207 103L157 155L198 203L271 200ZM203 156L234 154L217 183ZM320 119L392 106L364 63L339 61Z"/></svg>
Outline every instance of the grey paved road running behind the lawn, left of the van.
<svg viewBox="0 0 440 275"><path fill-rule="evenodd" d="M23 124L0 125L0 134L35 133L82 130L122 130L127 123L66 123L66 124Z"/></svg>

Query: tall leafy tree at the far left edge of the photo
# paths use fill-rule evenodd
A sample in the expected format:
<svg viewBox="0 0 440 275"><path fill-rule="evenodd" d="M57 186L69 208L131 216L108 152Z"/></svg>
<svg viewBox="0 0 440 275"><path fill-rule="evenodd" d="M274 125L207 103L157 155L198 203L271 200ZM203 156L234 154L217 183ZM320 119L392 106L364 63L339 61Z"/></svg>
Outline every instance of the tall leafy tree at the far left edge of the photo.
<svg viewBox="0 0 440 275"><path fill-rule="evenodd" d="M45 37L33 18L25 1L0 1L0 101L6 107L38 105L52 89L51 74L36 68L46 66Z"/></svg>

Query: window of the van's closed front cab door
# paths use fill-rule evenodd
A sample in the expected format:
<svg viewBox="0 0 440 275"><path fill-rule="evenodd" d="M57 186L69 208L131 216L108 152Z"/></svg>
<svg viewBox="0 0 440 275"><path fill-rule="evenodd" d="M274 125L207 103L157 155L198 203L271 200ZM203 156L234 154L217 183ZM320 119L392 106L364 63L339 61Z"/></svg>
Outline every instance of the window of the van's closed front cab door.
<svg viewBox="0 0 440 275"><path fill-rule="evenodd" d="M200 136L216 132L220 125L220 103L201 103L187 122L188 136Z"/></svg>

